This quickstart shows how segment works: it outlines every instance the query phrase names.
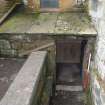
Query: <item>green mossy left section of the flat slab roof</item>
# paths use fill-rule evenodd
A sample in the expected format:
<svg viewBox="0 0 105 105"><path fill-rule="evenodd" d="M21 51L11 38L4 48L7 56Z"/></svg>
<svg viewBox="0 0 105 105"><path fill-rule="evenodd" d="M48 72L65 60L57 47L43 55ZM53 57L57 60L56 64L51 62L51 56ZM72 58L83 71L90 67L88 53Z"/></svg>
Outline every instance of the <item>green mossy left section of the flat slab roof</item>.
<svg viewBox="0 0 105 105"><path fill-rule="evenodd" d="M3 24L0 28L0 32L18 32L20 29L22 31L27 30L27 27L30 27L32 22L38 19L39 15L40 13L17 13L15 16L12 16L12 18L10 17L7 21L5 21L5 24Z"/></svg>

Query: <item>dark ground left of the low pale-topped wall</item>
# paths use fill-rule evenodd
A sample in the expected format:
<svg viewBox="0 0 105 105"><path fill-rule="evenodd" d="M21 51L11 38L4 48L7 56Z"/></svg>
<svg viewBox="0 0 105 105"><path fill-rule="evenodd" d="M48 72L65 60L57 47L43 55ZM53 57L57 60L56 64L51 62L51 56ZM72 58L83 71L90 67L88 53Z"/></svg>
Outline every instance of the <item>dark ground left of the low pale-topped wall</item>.
<svg viewBox="0 0 105 105"><path fill-rule="evenodd" d="M0 58L0 100L15 79L25 59Z"/></svg>

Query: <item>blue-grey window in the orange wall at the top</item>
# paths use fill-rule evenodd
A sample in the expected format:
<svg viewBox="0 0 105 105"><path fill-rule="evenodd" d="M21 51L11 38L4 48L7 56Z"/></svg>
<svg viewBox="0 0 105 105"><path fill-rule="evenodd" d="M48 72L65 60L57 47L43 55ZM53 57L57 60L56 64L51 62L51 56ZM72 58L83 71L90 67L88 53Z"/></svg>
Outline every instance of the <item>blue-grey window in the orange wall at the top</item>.
<svg viewBox="0 0 105 105"><path fill-rule="evenodd" d="M41 0L41 8L58 8L58 0Z"/></svg>

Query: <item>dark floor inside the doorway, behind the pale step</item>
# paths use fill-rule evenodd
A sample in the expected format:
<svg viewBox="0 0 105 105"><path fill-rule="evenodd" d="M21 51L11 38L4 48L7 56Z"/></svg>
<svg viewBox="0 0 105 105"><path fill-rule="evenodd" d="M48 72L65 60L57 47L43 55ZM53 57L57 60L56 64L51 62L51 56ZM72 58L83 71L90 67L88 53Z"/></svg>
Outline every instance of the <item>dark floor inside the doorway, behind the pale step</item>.
<svg viewBox="0 0 105 105"><path fill-rule="evenodd" d="M57 64L57 84L81 85L80 64Z"/></svg>

